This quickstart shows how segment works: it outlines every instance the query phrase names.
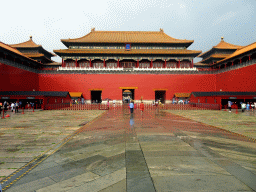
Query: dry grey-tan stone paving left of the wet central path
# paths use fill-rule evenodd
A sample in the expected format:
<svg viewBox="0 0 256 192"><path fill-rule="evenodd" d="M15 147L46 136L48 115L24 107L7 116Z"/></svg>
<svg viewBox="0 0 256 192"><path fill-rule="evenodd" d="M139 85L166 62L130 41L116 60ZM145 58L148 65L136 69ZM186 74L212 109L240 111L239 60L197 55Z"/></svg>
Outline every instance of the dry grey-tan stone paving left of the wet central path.
<svg viewBox="0 0 256 192"><path fill-rule="evenodd" d="M79 124L91 121L104 111L39 111L12 113L0 119L0 163L24 163L33 160L65 137L81 128ZM11 142L10 142L11 141ZM8 176L16 167L9 164ZM1 172L0 164L0 172Z"/></svg>

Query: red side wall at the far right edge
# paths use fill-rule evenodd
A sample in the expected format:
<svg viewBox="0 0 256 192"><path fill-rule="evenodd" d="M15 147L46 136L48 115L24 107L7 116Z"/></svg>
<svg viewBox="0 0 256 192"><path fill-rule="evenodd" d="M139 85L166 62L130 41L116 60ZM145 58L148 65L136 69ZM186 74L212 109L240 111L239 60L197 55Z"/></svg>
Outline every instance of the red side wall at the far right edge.
<svg viewBox="0 0 256 192"><path fill-rule="evenodd" d="M217 91L256 91L256 64L217 74Z"/></svg>

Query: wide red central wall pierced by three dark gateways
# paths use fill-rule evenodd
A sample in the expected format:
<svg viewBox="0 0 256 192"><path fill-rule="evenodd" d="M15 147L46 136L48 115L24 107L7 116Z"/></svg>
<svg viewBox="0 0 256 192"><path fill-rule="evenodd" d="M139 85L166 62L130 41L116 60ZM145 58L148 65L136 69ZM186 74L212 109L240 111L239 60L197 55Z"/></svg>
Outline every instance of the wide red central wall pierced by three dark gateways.
<svg viewBox="0 0 256 192"><path fill-rule="evenodd" d="M138 87L135 100L154 100L154 89L166 89L166 100L174 93L215 91L216 75L157 74L39 74L39 91L83 92L90 99L91 89L102 89L102 99L122 100L120 87Z"/></svg>

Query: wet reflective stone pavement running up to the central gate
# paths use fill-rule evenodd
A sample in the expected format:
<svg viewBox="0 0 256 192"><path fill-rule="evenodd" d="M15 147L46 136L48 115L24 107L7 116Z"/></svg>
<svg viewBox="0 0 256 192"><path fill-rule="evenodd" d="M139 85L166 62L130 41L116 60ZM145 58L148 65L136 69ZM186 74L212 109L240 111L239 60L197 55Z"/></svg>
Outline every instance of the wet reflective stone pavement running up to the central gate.
<svg viewBox="0 0 256 192"><path fill-rule="evenodd" d="M109 110L6 191L256 191L256 143L164 111Z"/></svg>

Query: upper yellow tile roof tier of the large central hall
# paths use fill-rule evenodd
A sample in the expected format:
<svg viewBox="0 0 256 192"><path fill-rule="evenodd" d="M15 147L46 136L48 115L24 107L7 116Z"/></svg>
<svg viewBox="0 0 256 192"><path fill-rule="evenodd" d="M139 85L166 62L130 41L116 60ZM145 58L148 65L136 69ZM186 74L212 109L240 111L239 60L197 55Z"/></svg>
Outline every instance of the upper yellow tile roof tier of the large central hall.
<svg viewBox="0 0 256 192"><path fill-rule="evenodd" d="M160 31L95 31L76 39L62 42L77 43L193 43L193 40L175 39Z"/></svg>

